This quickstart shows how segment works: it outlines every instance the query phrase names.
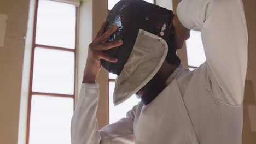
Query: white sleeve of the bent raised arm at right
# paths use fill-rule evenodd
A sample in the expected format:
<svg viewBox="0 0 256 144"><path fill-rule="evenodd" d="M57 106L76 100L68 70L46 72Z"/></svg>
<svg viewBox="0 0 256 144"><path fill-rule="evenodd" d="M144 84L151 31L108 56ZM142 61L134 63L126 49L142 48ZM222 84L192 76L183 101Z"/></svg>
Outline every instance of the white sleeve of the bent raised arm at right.
<svg viewBox="0 0 256 144"><path fill-rule="evenodd" d="M201 30L214 97L241 104L248 43L242 0L183 0L177 15L188 29Z"/></svg>

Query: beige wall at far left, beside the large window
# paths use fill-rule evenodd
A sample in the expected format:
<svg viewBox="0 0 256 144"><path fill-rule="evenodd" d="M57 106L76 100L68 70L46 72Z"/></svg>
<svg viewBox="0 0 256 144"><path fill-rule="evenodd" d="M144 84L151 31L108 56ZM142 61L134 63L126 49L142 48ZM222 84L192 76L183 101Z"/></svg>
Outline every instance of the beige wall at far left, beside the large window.
<svg viewBox="0 0 256 144"><path fill-rule="evenodd" d="M0 13L8 15L5 46L0 49L0 143L18 140L28 9L29 0L0 1Z"/></svg>

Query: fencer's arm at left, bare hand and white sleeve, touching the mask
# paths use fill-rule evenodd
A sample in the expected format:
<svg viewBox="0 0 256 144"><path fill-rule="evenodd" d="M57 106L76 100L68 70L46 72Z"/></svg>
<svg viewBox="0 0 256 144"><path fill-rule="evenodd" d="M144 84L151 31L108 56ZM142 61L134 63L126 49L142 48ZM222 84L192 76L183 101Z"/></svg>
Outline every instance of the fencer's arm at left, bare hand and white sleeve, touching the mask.
<svg viewBox="0 0 256 144"><path fill-rule="evenodd" d="M102 130L98 130L96 118L98 84L95 83L95 79L100 71L100 59L117 62L116 58L110 57L102 51L123 44L121 40L106 43L107 38L118 29L117 26L114 26L104 32L106 25L107 22L102 23L100 31L98 31L95 39L89 45L86 67L84 69L84 80L71 121L72 144L117 144L121 142L133 142L133 118L136 107L127 113L126 118L108 125Z"/></svg>

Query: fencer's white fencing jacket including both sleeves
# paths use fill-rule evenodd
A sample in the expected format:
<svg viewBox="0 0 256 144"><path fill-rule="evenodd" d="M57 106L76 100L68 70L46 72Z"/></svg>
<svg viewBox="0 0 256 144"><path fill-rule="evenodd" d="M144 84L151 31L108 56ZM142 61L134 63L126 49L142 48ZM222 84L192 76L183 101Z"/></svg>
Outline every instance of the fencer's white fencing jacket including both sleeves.
<svg viewBox="0 0 256 144"><path fill-rule="evenodd" d="M242 0L183 0L177 15L201 29L206 62L180 65L150 104L98 130L98 85L82 84L72 117L72 144L242 143L247 27Z"/></svg>

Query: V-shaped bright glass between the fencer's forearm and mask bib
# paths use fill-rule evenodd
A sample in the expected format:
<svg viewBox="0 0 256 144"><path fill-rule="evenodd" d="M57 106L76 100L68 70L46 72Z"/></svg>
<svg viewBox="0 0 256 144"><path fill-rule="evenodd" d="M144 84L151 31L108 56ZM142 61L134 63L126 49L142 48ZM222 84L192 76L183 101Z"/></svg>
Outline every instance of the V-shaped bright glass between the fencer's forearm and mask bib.
<svg viewBox="0 0 256 144"><path fill-rule="evenodd" d="M115 82L109 82L109 124L117 122L119 119L126 117L126 113L137 105L140 99L136 95L132 95L124 103L114 106L113 104L113 92L115 88Z"/></svg>

